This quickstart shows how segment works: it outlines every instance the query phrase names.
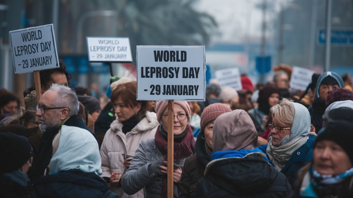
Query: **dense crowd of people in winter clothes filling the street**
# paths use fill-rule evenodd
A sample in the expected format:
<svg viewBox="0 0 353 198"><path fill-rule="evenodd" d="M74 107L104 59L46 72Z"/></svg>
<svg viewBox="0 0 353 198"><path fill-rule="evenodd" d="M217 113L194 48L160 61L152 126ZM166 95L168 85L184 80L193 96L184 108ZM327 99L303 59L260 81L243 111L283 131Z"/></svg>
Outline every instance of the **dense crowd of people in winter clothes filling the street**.
<svg viewBox="0 0 353 198"><path fill-rule="evenodd" d="M1 197L353 197L349 75L290 73L242 90L206 87L206 100L136 99L136 79L111 82L102 106L70 87L65 63L40 71L42 96L0 90ZM174 166L168 167L173 122ZM351 146L350 146L351 145Z"/></svg>

